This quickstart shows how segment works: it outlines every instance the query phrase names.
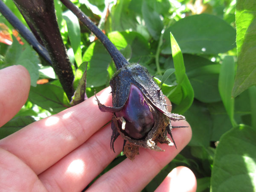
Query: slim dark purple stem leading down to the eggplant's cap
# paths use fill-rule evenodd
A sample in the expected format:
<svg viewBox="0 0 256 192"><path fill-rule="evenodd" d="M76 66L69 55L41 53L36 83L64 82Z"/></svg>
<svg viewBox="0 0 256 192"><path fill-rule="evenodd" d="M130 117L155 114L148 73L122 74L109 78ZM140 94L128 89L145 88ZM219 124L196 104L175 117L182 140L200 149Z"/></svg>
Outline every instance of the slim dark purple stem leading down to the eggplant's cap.
<svg viewBox="0 0 256 192"><path fill-rule="evenodd" d="M87 28L90 29L90 31L93 32L94 35L96 35L96 37L102 42L111 55L116 65L116 70L119 70L124 65L128 64L128 61L122 53L116 49L108 37L76 5L74 5L70 0L61 0L61 2L70 9L70 11L72 11L76 17L78 17L79 20L84 23L84 25L87 26Z"/></svg>

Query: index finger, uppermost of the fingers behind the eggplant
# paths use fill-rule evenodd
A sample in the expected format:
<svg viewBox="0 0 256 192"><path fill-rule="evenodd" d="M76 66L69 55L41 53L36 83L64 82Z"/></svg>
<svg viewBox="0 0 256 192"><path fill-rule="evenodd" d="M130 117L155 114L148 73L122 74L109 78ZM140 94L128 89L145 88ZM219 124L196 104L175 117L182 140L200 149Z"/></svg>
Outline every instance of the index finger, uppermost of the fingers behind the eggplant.
<svg viewBox="0 0 256 192"><path fill-rule="evenodd" d="M99 93L98 98L104 105L111 105L110 92L108 87ZM99 111L93 96L0 140L0 147L15 154L40 174L84 143L109 122L111 116L111 113Z"/></svg>

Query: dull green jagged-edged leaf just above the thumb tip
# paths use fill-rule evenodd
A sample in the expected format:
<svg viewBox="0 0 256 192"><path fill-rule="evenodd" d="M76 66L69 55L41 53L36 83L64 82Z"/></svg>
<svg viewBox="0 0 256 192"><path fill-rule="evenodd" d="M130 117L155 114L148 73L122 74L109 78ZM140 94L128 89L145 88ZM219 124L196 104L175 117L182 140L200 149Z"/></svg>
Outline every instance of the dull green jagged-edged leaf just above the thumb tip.
<svg viewBox="0 0 256 192"><path fill-rule="evenodd" d="M14 36L12 36L13 43L9 47L4 65L22 65L29 71L31 85L36 86L36 82L39 77L39 66L40 63L38 55L28 44L21 45Z"/></svg>

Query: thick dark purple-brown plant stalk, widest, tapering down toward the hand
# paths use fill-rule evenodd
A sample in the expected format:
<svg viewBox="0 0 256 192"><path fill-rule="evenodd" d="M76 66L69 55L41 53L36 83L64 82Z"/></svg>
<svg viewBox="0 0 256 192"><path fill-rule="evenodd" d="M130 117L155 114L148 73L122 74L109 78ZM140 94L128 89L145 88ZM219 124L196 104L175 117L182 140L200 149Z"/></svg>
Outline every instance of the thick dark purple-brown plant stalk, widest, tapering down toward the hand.
<svg viewBox="0 0 256 192"><path fill-rule="evenodd" d="M71 101L74 74L61 38L53 0L14 0L22 15L38 31L52 60L52 67Z"/></svg>

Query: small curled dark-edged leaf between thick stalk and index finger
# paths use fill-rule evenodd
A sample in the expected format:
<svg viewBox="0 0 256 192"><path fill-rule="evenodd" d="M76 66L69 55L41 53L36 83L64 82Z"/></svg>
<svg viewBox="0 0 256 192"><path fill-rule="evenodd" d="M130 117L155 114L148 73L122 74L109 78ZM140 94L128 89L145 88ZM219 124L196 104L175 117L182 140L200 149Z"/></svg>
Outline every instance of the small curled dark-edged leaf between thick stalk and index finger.
<svg viewBox="0 0 256 192"><path fill-rule="evenodd" d="M87 62L84 62L80 65L80 67L82 65L86 65L85 67L85 71L83 73L83 75L81 76L78 86L76 88L76 91L74 93L74 96L72 97L72 101L70 102L71 106L75 106L81 102L83 102L85 99L87 99L86 96L86 72L87 72ZM75 76L76 79L76 76Z"/></svg>

